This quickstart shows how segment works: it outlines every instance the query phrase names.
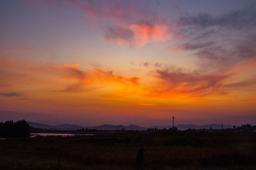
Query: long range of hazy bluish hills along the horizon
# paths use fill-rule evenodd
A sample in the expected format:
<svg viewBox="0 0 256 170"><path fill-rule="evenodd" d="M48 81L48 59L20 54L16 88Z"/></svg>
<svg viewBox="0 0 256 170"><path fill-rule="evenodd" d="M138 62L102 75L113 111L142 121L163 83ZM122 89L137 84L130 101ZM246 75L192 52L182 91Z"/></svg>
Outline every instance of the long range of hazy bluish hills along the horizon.
<svg viewBox="0 0 256 170"><path fill-rule="evenodd" d="M94 127L83 127L80 125L69 125L69 124L62 124L62 125L45 125L42 123L35 123L35 122L28 122L27 123L31 127L35 128L40 128L40 129L51 129L51 130L77 130L77 129L98 129L98 130L121 130L121 129L126 129L126 130L146 130L147 128L166 128L169 129L172 126L151 126L151 127L139 127L137 125L129 125L129 126L123 126L123 125L101 125L101 126L94 126ZM186 130L189 128L194 128L194 129L221 129L221 124L210 124L210 125L176 125L179 130ZM223 128L233 128L232 125L223 125Z"/></svg>

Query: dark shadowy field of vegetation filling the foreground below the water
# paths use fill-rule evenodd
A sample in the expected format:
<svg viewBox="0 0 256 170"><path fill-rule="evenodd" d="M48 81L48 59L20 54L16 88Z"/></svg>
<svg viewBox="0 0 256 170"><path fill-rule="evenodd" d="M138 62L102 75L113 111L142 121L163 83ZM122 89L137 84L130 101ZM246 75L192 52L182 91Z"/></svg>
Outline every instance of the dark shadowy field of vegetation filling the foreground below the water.
<svg viewBox="0 0 256 170"><path fill-rule="evenodd" d="M0 140L0 170L255 170L255 133L161 130Z"/></svg>

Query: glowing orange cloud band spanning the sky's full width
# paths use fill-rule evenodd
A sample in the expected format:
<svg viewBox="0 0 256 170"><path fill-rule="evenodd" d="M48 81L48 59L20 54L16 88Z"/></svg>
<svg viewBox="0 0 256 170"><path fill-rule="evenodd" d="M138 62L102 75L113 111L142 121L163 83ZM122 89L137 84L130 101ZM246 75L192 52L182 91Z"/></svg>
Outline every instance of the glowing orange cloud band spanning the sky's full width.
<svg viewBox="0 0 256 170"><path fill-rule="evenodd" d="M223 99L220 99L220 96L239 100L239 93L235 90L253 87L256 82L255 79L249 79L229 83L230 80L227 81L230 78L229 74L200 76L195 73L170 71L166 68L155 70L150 68L151 72L147 78L141 79L137 76L126 77L110 70L97 68L82 70L77 67L79 64L33 65L22 61L16 62L13 59L11 62L8 59L0 58L0 60L4 61L0 68L4 72L0 73L0 77L6 80L3 82L4 84L0 85L5 90L2 93L9 93L8 88L15 86L17 92L22 92L24 96L27 93L35 93L35 91L51 91L58 93L59 96L68 95L66 93L68 92L73 95L86 94L95 99L133 101L134 99L151 98L153 103L165 102L164 98L168 98L169 102L174 103L177 101L205 102L208 97L211 97L208 101L221 101ZM153 64L151 63L151 65ZM155 65L159 66L159 63ZM20 76L20 73L25 76ZM46 94L40 95L45 96ZM137 103L143 105L151 102L140 103L137 101L134 104L137 105Z"/></svg>

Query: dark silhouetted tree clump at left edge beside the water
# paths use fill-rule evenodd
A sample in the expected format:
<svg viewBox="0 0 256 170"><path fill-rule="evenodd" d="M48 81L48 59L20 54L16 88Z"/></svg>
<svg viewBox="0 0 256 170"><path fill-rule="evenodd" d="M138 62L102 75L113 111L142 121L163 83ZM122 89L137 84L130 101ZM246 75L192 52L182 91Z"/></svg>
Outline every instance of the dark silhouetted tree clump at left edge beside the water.
<svg viewBox="0 0 256 170"><path fill-rule="evenodd" d="M13 122L8 120L0 123L0 137L28 137L29 124L23 119Z"/></svg>

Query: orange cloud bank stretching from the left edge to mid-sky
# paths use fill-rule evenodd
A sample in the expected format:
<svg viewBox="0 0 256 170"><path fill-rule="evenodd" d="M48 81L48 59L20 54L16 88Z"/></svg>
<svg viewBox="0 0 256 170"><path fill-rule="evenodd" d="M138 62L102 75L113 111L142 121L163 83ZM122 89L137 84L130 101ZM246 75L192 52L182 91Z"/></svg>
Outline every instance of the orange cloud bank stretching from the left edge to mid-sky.
<svg viewBox="0 0 256 170"><path fill-rule="evenodd" d="M77 67L79 64L35 65L4 58L0 58L0 61L2 61L0 69L3 70L0 78L5 80L4 84L0 84L0 88L17 87L22 92L26 91L24 94L29 88L29 93L35 90L43 92L47 89L46 91L53 93L86 92L92 96L116 98L126 97L138 92L138 89L141 90L139 77L119 76L109 70L97 68L81 70ZM21 73L24 76L21 76Z"/></svg>

